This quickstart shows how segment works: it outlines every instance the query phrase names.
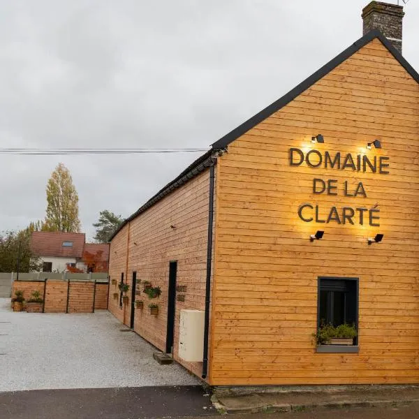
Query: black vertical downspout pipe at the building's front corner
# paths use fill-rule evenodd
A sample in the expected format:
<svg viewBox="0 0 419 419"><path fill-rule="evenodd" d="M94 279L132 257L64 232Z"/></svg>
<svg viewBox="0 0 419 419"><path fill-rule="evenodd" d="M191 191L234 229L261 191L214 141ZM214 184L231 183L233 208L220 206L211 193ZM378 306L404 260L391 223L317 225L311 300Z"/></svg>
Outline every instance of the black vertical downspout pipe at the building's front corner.
<svg viewBox="0 0 419 419"><path fill-rule="evenodd" d="M208 332L210 330L211 266L212 266L212 229L214 221L214 166L210 166L210 200L208 204L208 242L207 242L207 277L205 284L205 319L204 319L204 354L202 378L207 378L208 370Z"/></svg>

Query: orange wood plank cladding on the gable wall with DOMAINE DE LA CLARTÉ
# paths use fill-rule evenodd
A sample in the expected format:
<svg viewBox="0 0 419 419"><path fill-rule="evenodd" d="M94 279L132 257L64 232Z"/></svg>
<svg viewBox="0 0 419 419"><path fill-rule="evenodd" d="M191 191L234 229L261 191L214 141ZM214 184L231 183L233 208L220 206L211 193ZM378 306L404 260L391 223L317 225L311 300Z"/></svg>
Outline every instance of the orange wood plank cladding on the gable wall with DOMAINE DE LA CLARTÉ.
<svg viewBox="0 0 419 419"><path fill-rule="evenodd" d="M325 142L312 144L319 133ZM382 148L366 149L376 139ZM292 148L388 166L291 166ZM217 161L212 385L419 383L418 157L419 85L378 39L228 145ZM350 196L359 184L365 193ZM341 222L321 223L333 207ZM343 223L342 208L379 219ZM316 230L323 239L310 242ZM318 277L359 279L359 353L316 353Z"/></svg>

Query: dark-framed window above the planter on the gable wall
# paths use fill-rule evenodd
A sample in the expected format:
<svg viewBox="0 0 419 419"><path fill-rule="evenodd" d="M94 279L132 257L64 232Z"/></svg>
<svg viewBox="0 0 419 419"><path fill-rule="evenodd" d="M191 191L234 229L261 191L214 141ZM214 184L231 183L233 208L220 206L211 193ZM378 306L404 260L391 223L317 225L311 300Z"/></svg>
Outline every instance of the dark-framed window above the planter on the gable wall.
<svg viewBox="0 0 419 419"><path fill-rule="evenodd" d="M358 278L319 278L318 327L345 323L358 330Z"/></svg>

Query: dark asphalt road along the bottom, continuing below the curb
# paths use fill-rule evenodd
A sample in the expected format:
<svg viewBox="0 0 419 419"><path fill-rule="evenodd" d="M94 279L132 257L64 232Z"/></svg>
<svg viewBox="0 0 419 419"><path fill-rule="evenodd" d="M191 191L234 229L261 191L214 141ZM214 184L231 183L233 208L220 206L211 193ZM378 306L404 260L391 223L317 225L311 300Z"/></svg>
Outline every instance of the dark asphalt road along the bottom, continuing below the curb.
<svg viewBox="0 0 419 419"><path fill-rule="evenodd" d="M220 419L200 386L31 390L0 393L1 419ZM419 403L388 409L316 409L232 419L418 419Z"/></svg>

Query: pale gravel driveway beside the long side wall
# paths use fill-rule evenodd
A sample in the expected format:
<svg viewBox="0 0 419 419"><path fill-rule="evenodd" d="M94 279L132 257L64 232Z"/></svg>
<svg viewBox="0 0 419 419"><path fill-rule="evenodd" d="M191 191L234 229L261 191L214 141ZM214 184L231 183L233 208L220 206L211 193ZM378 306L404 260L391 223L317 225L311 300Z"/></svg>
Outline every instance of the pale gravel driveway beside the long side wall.
<svg viewBox="0 0 419 419"><path fill-rule="evenodd" d="M29 314L0 299L0 391L196 385L180 365L159 365L156 349L108 311Z"/></svg>

